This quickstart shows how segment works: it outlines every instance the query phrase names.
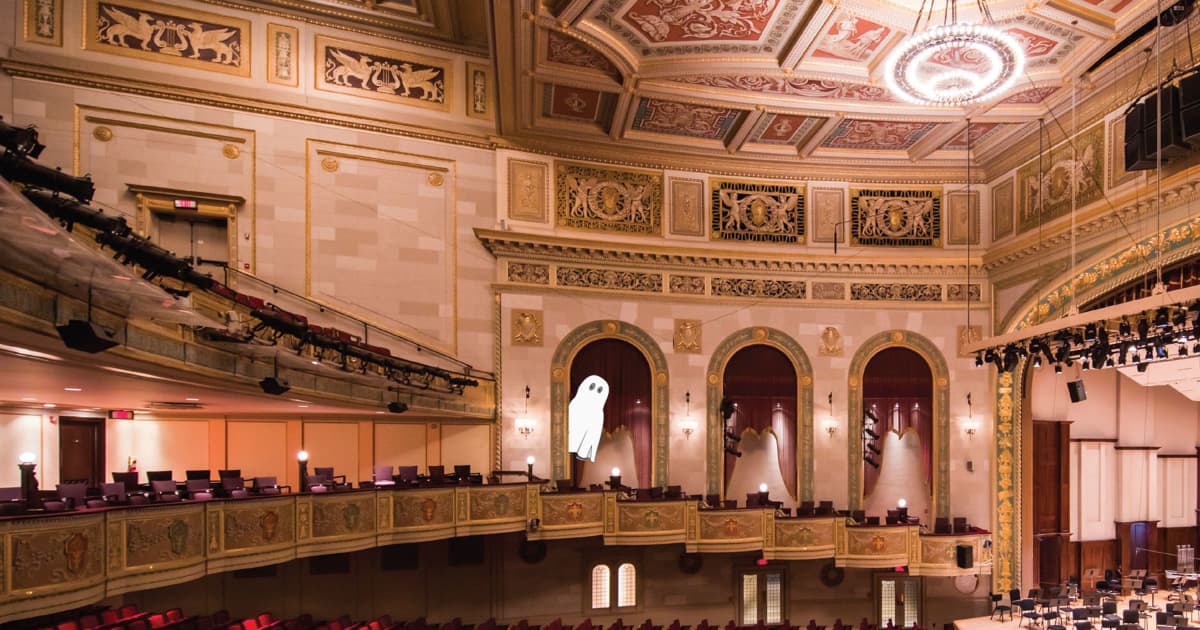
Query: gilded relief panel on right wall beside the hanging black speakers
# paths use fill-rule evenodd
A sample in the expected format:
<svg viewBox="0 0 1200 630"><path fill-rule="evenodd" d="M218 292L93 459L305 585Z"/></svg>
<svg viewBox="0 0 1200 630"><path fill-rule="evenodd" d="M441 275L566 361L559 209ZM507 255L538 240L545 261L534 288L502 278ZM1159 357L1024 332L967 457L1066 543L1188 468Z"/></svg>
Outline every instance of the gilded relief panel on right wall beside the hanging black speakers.
<svg viewBox="0 0 1200 630"><path fill-rule="evenodd" d="M1104 194L1104 122L1034 157L1016 170L1021 212L1018 232L1036 228L1084 208ZM1072 190L1075 190L1074 205Z"/></svg>

